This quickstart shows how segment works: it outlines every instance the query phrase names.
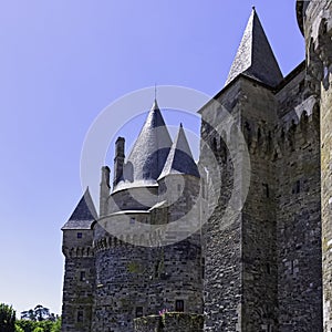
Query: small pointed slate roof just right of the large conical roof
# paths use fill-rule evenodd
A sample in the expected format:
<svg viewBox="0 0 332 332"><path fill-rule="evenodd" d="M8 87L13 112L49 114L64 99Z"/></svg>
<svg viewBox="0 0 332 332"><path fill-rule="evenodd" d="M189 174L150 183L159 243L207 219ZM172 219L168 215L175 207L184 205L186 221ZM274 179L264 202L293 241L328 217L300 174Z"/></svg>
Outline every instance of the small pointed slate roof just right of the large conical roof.
<svg viewBox="0 0 332 332"><path fill-rule="evenodd" d="M186 174L200 177L181 124L159 178L169 174Z"/></svg>

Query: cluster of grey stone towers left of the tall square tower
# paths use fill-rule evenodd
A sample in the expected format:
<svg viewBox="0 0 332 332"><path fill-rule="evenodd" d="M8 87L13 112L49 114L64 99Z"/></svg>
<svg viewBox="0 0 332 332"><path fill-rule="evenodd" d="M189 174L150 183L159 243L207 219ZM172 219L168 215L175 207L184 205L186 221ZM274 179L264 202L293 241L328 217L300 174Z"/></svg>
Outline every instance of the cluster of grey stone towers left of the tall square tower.
<svg viewBox="0 0 332 332"><path fill-rule="evenodd" d="M155 142L162 143L165 137L167 146L156 146ZM184 128L179 127L172 144L155 102L127 162L124 143L124 138L116 142L112 190L110 168L102 167L100 217L89 214L91 197L86 191L63 227L62 331L129 332L134 331L134 319L155 315L164 309L185 313L167 315L160 331L175 331L178 323L187 322L199 331L203 324L200 232L169 243L163 234L129 231L138 222L158 226L178 220L198 201L200 175ZM159 148L162 153L156 154ZM142 160L137 160L141 152ZM137 170L139 167L144 172ZM129 220L128 227L117 237L111 235L106 229L110 218ZM168 237L172 236L169 232ZM87 248L89 258L75 255ZM89 274L81 282L83 269Z"/></svg>

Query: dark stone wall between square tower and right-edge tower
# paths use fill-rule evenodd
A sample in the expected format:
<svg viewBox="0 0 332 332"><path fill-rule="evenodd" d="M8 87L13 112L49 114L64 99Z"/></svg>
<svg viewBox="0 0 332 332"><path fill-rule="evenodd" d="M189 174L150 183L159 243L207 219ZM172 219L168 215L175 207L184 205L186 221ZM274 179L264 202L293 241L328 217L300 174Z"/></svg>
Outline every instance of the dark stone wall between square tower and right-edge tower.
<svg viewBox="0 0 332 332"><path fill-rule="evenodd" d="M279 331L322 331L319 114L304 71L277 93ZM298 104L288 105L287 101Z"/></svg>

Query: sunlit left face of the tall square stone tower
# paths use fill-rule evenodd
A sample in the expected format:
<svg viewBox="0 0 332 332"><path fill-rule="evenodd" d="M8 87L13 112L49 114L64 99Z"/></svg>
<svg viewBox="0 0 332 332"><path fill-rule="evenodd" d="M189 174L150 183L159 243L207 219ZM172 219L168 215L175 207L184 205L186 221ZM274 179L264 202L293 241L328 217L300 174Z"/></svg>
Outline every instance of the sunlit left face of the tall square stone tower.
<svg viewBox="0 0 332 332"><path fill-rule="evenodd" d="M227 90L225 101L236 104L239 87L239 85L235 85L234 89ZM211 212L203 228L204 331L239 331L242 301L241 216L232 210L232 214L222 219L231 196L234 165L225 144L227 133L224 137L219 135L227 128L216 131L217 124L222 124L225 120L219 111L219 105L211 103L200 113L203 120L199 164L208 170L207 211ZM211 167L211 165L216 165L216 162L220 166ZM218 180L220 177L221 183ZM220 197L218 197L219 190ZM218 198L216 205L214 205L215 201L211 201L211 197Z"/></svg>

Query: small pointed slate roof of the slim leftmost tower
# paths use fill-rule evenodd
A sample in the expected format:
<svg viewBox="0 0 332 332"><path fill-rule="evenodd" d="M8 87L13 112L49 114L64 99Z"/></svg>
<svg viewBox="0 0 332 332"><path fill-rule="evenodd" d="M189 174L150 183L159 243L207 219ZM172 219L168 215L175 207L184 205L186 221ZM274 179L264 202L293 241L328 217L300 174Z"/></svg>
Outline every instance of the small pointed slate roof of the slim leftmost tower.
<svg viewBox="0 0 332 332"><path fill-rule="evenodd" d="M91 229L91 225L96 219L97 214L91 198L90 190L86 188L76 208L62 229Z"/></svg>

